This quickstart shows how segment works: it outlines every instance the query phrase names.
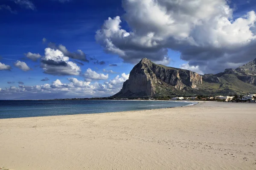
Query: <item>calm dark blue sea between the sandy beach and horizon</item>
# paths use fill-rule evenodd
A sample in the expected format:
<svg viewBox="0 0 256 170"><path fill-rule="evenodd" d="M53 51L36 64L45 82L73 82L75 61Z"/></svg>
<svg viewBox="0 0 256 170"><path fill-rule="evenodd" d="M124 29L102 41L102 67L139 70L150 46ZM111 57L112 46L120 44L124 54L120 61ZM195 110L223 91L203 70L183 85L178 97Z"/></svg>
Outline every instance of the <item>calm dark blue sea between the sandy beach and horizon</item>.
<svg viewBox="0 0 256 170"><path fill-rule="evenodd" d="M112 100L0 100L0 119L139 111L193 105L195 102Z"/></svg>

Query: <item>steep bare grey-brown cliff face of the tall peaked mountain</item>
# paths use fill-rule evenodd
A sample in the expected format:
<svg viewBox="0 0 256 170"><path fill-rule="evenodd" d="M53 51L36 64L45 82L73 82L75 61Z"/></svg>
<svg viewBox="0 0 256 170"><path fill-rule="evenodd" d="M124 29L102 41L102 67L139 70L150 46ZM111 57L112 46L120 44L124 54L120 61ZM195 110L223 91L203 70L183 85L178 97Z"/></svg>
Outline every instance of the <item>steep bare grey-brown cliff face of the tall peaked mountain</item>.
<svg viewBox="0 0 256 170"><path fill-rule="evenodd" d="M202 84L200 74L157 65L144 58L134 66L122 90L114 96L157 96L157 89L163 85L183 90L197 89L199 84Z"/></svg>

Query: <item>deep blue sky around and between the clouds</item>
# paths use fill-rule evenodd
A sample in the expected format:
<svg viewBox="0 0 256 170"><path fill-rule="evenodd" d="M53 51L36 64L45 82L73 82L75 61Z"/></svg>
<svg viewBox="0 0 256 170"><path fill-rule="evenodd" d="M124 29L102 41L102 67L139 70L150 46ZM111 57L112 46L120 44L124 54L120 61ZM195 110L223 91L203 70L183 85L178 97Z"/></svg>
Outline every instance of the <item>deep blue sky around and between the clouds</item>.
<svg viewBox="0 0 256 170"><path fill-rule="evenodd" d="M108 17L113 19L116 16L120 16L120 20L122 21L119 25L121 26L121 29L129 32L130 34L133 32L137 37L142 36L139 35L140 28L146 28L147 26L145 27L142 25L140 28L138 28L138 23L134 24L131 20L129 20L129 17L131 18L132 15L129 13L131 12L130 6L132 5L133 4L129 0L124 0L123 4L121 0L1 0L0 62L11 66L11 69L0 70L0 89L2 89L0 99L39 99L43 97L45 98L45 96L49 94L51 95L47 98L111 96L119 91L122 86L122 82L125 81L131 69L134 67L137 61L139 61L139 59L144 57L148 57L154 62L163 63L172 67L187 68L201 74L207 73L208 70L204 69L203 66L198 64L202 62L201 60L198 61L194 58L188 58L183 54L182 50L184 49L184 46L177 47L177 45L169 44L163 45L163 47L160 48L157 46L157 52L152 53L154 57L151 57L151 54L148 54L150 53L148 52L150 49L145 55L142 53L141 57L137 57L135 54L138 52L134 52L134 45L131 47L119 47L118 49L125 51L125 54L122 55L114 50L111 51L111 49L108 48L108 45L105 44L105 40L108 40L108 37L102 38L101 34L101 37L96 40L96 31L104 31L102 26L104 26L104 23L106 23L105 20L108 20ZM233 18L229 18L231 21L242 17L248 11L253 11L256 7L256 2L253 2L253 0L232 0L230 3L227 3L227 5L230 7L230 9L233 9ZM138 16L140 17L140 14L138 14ZM144 20L147 20L147 18L143 18L143 21ZM148 27L150 27L150 25L148 25ZM156 34L157 31L154 35ZM177 37L174 37L171 34L169 36L177 39ZM135 37L134 40L137 40L137 37ZM45 38L45 41L43 41L43 38ZM117 40L116 37L111 38L113 42L115 42L115 40L116 42L120 41ZM134 42L134 40L132 42ZM89 62L84 62L79 59L72 59L70 57L69 61L76 63L77 66L81 68L79 74L47 74L44 70L44 66L42 66L41 59L43 59L46 55L45 49L49 47L52 48L49 46L50 42L55 43L55 46L57 46L54 50L58 50L58 45L63 45L71 53L77 52L77 50L83 51L86 54L86 59L89 60ZM125 44L128 44L128 42L125 42ZM118 43L114 45L118 46ZM138 47L139 46L140 45L138 45ZM174 48L172 48L173 46ZM160 56L159 49L167 49L168 51L164 52L163 56ZM132 53L130 53L131 51ZM40 54L41 57L37 60L37 62L35 62L26 57L25 54L28 52L31 52L32 54ZM135 59L130 59L129 57L134 57ZM193 57L196 58L197 56ZM237 60L233 64L230 64L230 61L227 61L227 63L229 63L227 64L227 67L236 67L243 62L245 63L249 61L251 58L252 57L244 59L244 61ZM23 71L22 69L16 67L14 64L17 60L25 62L30 70ZM98 63L94 63L97 61ZM103 61L102 63L104 64L99 64L101 61ZM82 62L83 65L79 64L78 62ZM209 63L209 60L204 60L204 63L206 62ZM113 88L103 90L105 93L100 90L95 90L95 87L93 87L93 90L90 91L90 93L88 92L84 94L81 94L81 91L83 90L80 89L80 95L77 93L62 93L59 91L45 92L42 91L42 89L40 91L33 90L28 92L28 86L35 88L35 85L49 84L51 87L53 87L52 82L54 82L56 79L61 81L61 87L67 87L67 84L69 83L73 83L74 85L74 82L71 82L68 80L68 78L76 78L81 83L88 82L88 77L86 78L83 76L84 72L87 71L88 68L95 71L97 74L108 74L108 79L90 79L90 85L99 83L104 85L104 88L107 88L106 86L108 86L108 82L110 80L118 79L118 75L120 78L122 77L121 74L125 73L124 77L126 78L120 80L120 82L117 83L118 86L113 87L115 90L113 90ZM103 71L103 69L107 71ZM221 66L221 69L224 69L223 66ZM109 72L110 70L112 73ZM218 72L221 70L213 71ZM47 77L49 80L41 81L45 77ZM7 82L14 83L9 84ZM24 84L18 84L18 82L23 82ZM18 85L23 85L26 87L18 87ZM11 92L11 87L17 87L20 89L18 91ZM76 89L74 88L73 91L75 90Z"/></svg>

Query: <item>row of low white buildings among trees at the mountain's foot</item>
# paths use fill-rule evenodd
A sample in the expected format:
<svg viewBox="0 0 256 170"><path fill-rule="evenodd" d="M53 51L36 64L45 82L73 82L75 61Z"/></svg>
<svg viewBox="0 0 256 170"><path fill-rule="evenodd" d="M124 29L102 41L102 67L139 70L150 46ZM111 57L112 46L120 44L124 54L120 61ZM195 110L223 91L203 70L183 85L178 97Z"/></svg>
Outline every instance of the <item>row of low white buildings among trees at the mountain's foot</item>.
<svg viewBox="0 0 256 170"><path fill-rule="evenodd" d="M242 96L242 101L250 101L255 102L253 96L256 96L256 94L249 94L246 96ZM219 100L225 100L226 102L231 101L235 96L212 96L212 97L204 97L201 98L202 100L213 100L213 99L219 99ZM171 100L197 100L198 97L173 97ZM239 96L240 99L240 96Z"/></svg>

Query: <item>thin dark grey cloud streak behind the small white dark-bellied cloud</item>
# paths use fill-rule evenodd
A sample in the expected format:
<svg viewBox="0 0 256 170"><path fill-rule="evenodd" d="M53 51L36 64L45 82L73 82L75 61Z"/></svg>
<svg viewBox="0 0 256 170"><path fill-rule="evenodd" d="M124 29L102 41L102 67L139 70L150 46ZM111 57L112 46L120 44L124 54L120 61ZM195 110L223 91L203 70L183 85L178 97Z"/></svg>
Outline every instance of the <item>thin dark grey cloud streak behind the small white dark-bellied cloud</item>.
<svg viewBox="0 0 256 170"><path fill-rule="evenodd" d="M64 45L55 45L55 43L52 43L50 42L48 44L48 46L50 48L53 48L53 49L58 49L59 51L61 51L65 56L67 57L70 57L72 59L78 59L78 60L81 60L81 61L84 61L84 62L89 62L89 60L86 58L86 54L84 54L83 51L81 50L77 50L76 52L70 52L67 50L67 48L64 46Z"/></svg>

